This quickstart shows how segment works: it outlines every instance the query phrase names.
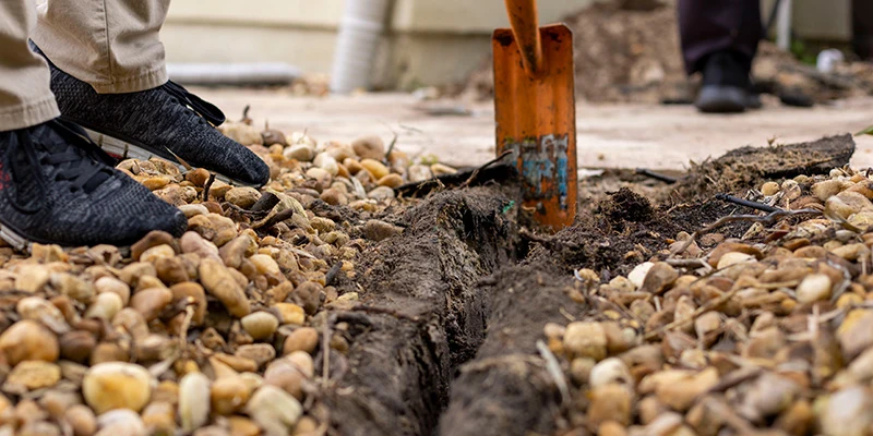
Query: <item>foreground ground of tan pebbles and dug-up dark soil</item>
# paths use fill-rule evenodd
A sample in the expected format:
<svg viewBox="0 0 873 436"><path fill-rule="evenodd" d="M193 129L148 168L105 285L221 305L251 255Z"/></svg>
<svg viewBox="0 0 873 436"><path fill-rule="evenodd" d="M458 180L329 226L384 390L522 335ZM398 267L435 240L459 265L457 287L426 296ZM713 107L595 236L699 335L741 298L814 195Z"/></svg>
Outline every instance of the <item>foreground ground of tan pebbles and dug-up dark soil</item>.
<svg viewBox="0 0 873 436"><path fill-rule="evenodd" d="M182 238L0 249L2 434L873 429L873 180L844 167L850 136L583 181L597 205L549 235L513 167L224 132L267 186L119 165Z"/></svg>

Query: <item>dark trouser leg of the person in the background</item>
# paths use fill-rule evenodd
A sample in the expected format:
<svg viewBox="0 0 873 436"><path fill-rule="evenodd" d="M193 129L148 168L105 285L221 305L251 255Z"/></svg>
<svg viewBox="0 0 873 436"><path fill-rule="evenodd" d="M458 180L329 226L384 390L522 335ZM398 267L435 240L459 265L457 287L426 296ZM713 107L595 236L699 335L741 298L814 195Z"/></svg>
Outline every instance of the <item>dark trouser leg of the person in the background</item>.
<svg viewBox="0 0 873 436"><path fill-rule="evenodd" d="M679 0L682 52L689 74L701 71L706 57L730 50L751 64L763 36L760 0Z"/></svg>

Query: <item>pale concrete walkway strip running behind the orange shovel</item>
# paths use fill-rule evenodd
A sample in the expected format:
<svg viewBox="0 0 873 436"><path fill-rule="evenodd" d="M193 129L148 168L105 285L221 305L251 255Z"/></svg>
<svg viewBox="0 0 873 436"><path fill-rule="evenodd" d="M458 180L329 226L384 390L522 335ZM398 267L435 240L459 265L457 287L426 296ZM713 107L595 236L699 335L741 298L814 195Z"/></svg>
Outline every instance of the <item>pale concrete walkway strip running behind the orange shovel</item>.
<svg viewBox="0 0 873 436"><path fill-rule="evenodd" d="M349 97L292 97L275 90L195 89L238 119L246 105L256 123L264 120L286 132L307 131L319 141L351 141L380 135L410 155L432 154L455 166L473 166L494 156L493 108L457 102L423 104L410 95L367 94ZM429 110L424 110L429 108ZM441 112L433 116L432 112ZM446 114L449 113L449 114ZM702 116L690 106L579 105L579 166L682 169L689 160L717 157L743 145L768 140L792 143L858 132L873 124L873 98L840 101L814 109L765 102L760 111L739 116ZM873 167L873 136L856 138L852 165Z"/></svg>

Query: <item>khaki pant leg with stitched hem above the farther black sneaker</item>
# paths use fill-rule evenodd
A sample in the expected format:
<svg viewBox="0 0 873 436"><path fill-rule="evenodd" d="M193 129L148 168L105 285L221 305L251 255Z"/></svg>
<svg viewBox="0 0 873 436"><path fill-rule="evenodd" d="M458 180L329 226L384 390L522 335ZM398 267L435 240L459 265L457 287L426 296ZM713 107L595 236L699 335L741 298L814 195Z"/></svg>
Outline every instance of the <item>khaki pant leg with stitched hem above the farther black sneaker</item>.
<svg viewBox="0 0 873 436"><path fill-rule="evenodd" d="M100 94L151 89L167 82L158 32L168 8L169 0L48 0L33 39Z"/></svg>

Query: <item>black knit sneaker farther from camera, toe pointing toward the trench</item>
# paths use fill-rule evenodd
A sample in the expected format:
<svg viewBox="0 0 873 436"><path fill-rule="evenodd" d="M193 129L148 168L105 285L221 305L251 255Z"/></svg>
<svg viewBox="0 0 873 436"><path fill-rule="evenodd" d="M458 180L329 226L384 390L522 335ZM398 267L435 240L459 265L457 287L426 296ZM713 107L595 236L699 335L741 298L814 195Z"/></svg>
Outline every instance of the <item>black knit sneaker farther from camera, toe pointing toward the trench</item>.
<svg viewBox="0 0 873 436"><path fill-rule="evenodd" d="M51 61L49 66L61 117L84 128L110 155L142 160L157 156L179 164L178 157L232 184L262 186L270 181L261 158L215 129L225 122L224 113L182 86L168 82L140 93L97 94Z"/></svg>

